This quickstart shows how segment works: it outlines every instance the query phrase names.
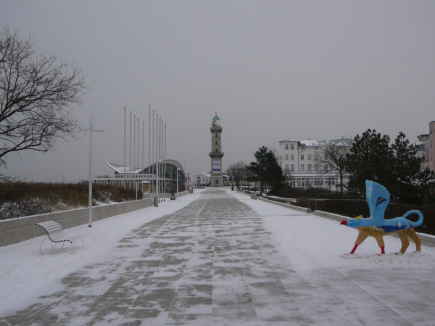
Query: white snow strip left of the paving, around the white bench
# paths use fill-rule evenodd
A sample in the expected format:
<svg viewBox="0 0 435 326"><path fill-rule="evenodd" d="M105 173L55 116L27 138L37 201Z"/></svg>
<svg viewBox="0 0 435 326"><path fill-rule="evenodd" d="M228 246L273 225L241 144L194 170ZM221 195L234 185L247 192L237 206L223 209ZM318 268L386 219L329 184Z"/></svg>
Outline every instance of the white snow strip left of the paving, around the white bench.
<svg viewBox="0 0 435 326"><path fill-rule="evenodd" d="M54 280L61 279L83 266L115 259L123 253L122 250L117 250L118 241L131 230L174 213L197 199L202 191L204 190L197 190L194 194L182 196L175 201L166 200L157 208L147 207L95 221L92 222L92 227L84 224L66 229L66 234L78 233L83 236L84 246L77 248L74 253L73 247L67 243L64 249L56 246L54 254L51 254L50 242L45 240L42 245L44 255L41 255L39 246L45 236L0 247L0 312L17 306L17 303L28 296L43 294L48 284L52 285ZM81 241L76 245L80 246ZM135 254L133 250L131 252Z"/></svg>

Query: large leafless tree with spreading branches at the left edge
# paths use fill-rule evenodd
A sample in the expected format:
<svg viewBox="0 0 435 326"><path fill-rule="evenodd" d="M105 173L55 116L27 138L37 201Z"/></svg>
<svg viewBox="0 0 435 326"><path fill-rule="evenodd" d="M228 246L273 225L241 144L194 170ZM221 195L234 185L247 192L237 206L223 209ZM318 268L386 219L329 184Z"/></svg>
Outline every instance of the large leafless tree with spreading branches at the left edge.
<svg viewBox="0 0 435 326"><path fill-rule="evenodd" d="M7 27L0 33L0 167L7 154L49 152L58 138L80 131L71 114L90 89L77 64L55 52L39 53L34 38L20 38ZM7 181L5 175L0 180Z"/></svg>

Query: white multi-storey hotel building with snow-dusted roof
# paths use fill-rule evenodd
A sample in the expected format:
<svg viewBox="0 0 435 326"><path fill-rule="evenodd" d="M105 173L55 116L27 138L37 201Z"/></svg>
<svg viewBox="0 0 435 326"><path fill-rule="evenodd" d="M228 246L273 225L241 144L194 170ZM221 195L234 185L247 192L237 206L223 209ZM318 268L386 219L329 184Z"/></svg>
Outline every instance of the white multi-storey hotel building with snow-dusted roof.
<svg viewBox="0 0 435 326"><path fill-rule="evenodd" d="M283 173L290 176L289 186L320 187L340 191L340 175L337 170L327 173L316 163L321 148L328 144L352 147L354 141L350 139L333 140L280 140L281 167ZM343 177L343 184L348 183L349 177Z"/></svg>

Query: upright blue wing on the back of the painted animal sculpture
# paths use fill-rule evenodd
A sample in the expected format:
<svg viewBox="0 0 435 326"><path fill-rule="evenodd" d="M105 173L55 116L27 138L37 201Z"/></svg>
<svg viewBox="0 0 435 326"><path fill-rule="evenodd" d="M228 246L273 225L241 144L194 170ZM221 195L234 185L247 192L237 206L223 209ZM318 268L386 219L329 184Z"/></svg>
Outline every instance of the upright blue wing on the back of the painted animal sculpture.
<svg viewBox="0 0 435 326"><path fill-rule="evenodd" d="M370 217L374 225L384 224L384 212L390 202L388 190L374 181L365 180L365 198L370 208Z"/></svg>

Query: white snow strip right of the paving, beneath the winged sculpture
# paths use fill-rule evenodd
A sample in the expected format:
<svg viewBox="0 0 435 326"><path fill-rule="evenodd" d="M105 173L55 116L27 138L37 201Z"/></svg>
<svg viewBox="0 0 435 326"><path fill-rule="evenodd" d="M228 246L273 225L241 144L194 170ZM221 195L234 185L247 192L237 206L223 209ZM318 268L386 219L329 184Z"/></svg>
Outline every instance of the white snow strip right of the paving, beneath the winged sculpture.
<svg viewBox="0 0 435 326"><path fill-rule="evenodd" d="M264 227L271 232L271 240L285 254L292 269L309 271L319 267L343 269L375 268L376 266L408 266L410 271L435 268L435 248L422 246L422 253L412 253L415 244L410 240L405 254L395 255L402 244L400 239L384 236L385 255L369 258L343 259L358 236L358 230L340 225L340 222L302 213L290 208L251 200L250 196L228 190L241 202L250 206L264 219ZM356 254L380 253L373 237L368 237L356 249Z"/></svg>

